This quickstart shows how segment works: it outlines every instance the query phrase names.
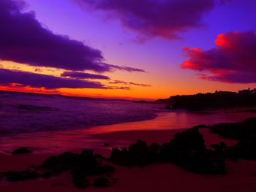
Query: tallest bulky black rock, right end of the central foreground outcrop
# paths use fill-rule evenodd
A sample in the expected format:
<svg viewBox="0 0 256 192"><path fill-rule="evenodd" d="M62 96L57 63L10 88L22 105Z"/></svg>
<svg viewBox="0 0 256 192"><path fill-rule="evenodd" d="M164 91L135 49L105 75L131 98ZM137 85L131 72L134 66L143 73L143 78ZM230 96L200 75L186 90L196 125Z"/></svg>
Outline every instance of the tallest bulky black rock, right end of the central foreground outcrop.
<svg viewBox="0 0 256 192"><path fill-rule="evenodd" d="M224 174L225 158L221 153L207 150L198 128L190 128L174 135L170 143L162 145L163 161L202 174Z"/></svg>

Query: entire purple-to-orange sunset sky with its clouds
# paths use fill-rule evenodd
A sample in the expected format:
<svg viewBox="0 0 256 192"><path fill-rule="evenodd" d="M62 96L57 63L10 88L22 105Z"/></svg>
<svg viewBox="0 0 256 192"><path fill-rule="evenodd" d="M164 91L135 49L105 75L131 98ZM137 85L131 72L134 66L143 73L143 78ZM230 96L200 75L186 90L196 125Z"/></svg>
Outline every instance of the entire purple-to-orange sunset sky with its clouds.
<svg viewBox="0 0 256 192"><path fill-rule="evenodd" d="M255 0L0 0L0 89L118 99L256 88Z"/></svg>

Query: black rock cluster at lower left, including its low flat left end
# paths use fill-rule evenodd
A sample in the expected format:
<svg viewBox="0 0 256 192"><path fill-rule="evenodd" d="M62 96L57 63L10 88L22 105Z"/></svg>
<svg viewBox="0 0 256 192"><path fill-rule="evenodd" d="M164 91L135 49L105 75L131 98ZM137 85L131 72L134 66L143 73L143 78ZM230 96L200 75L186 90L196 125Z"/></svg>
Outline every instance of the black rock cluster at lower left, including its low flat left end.
<svg viewBox="0 0 256 192"><path fill-rule="evenodd" d="M105 159L102 155L95 154L93 150L83 150L82 153L65 152L47 158L34 171L24 170L22 172L8 171L0 175L8 181L31 180L36 177L48 178L61 172L70 171L72 182L78 188L89 186L87 177L90 175L108 174L115 168L108 164L102 164Z"/></svg>

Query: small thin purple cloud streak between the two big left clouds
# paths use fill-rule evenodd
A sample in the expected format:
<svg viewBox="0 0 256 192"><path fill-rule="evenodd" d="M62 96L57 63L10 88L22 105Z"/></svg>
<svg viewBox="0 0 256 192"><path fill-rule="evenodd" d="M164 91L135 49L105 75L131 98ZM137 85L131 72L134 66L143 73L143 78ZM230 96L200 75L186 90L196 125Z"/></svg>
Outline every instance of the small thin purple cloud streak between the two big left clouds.
<svg viewBox="0 0 256 192"><path fill-rule="evenodd" d="M109 80L110 77L102 74L89 74L85 72L63 72L61 77L72 77L76 79L99 79L99 80Z"/></svg>

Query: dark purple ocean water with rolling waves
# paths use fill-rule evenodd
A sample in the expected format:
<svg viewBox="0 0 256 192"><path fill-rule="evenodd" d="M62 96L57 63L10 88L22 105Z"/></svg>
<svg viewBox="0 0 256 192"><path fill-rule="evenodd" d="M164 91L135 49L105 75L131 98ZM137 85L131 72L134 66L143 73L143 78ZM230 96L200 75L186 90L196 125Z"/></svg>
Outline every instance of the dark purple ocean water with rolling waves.
<svg viewBox="0 0 256 192"><path fill-rule="evenodd" d="M0 134L69 130L148 120L163 111L158 104L75 99L63 96L0 92Z"/></svg>

